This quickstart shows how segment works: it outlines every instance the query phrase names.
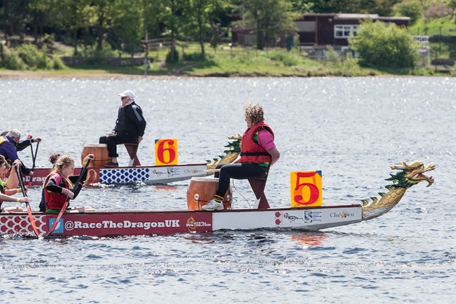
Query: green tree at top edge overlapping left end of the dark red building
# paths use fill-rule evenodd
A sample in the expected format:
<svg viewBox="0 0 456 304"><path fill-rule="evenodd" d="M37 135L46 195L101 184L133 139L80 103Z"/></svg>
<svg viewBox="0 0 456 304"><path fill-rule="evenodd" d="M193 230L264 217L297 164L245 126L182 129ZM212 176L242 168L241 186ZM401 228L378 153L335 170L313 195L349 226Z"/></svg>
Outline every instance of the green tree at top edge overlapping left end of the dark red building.
<svg viewBox="0 0 456 304"><path fill-rule="evenodd" d="M267 41L284 31L296 30L296 13L287 0L244 0L246 21L257 33L257 48L262 50Z"/></svg>

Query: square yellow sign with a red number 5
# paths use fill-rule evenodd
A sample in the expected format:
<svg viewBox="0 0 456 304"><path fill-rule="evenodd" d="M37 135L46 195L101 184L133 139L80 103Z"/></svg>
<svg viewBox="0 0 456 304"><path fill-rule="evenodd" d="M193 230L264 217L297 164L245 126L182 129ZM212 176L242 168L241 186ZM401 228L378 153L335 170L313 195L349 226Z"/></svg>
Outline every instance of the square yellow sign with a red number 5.
<svg viewBox="0 0 456 304"><path fill-rule="evenodd" d="M291 207L321 206L321 171L294 171L291 177Z"/></svg>

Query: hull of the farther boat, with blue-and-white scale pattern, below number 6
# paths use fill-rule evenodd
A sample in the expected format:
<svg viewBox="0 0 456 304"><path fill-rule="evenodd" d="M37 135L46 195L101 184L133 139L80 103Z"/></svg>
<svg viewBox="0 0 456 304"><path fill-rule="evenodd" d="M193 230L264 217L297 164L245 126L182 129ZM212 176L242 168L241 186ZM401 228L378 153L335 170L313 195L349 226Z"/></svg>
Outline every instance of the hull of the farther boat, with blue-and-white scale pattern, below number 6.
<svg viewBox="0 0 456 304"><path fill-rule="evenodd" d="M207 164L177 164L172 166L140 166L140 167L92 167L88 169L88 184L167 184L179 182L192 177L204 177ZM42 186L51 168L35 168L33 177L26 176L25 183L32 186ZM81 168L74 173L79 174Z"/></svg>

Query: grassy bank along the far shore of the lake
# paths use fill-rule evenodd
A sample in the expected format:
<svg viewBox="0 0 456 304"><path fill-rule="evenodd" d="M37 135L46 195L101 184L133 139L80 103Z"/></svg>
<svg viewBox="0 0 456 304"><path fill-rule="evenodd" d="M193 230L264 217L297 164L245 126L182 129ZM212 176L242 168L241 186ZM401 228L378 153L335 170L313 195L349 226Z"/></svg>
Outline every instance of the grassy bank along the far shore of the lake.
<svg viewBox="0 0 456 304"><path fill-rule="evenodd" d="M121 78L149 76L170 77L322 77L322 76L375 76L375 75L448 75L450 70L435 72L434 67L416 70L361 68L356 58L340 58L334 53L328 54L324 61L314 61L306 53L293 49L289 52L274 48L257 51L251 48L217 49L206 48L202 58L199 46L186 44L179 47L179 61L166 63L169 49L151 51L151 66L144 65L108 65L103 59L90 65L69 65L60 70L6 70L0 69L0 77L8 78ZM208 45L209 46L209 45ZM128 55L123 55L128 56ZM138 54L137 56L143 56ZM93 62L93 61L92 61Z"/></svg>

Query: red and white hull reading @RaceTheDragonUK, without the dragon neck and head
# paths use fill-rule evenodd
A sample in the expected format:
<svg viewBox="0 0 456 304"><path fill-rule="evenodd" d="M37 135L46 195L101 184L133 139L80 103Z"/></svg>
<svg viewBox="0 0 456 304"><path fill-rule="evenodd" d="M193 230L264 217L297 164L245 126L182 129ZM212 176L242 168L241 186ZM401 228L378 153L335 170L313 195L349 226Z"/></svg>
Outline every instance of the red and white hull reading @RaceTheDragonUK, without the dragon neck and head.
<svg viewBox="0 0 456 304"><path fill-rule="evenodd" d="M299 229L318 231L362 221L361 205L311 208L207 211L117 210L66 213L51 236L136 236L217 230ZM46 234L57 214L33 214L39 234ZM0 234L33 235L26 213L0 214Z"/></svg>

